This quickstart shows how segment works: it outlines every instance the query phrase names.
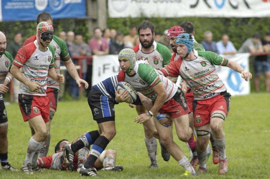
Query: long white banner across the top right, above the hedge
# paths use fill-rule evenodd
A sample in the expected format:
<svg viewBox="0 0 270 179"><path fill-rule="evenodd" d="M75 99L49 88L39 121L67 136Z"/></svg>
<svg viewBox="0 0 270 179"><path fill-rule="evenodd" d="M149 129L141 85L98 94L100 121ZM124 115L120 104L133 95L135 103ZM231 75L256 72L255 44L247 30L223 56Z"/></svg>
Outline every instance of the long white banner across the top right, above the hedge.
<svg viewBox="0 0 270 179"><path fill-rule="evenodd" d="M109 0L110 17L269 17L270 0Z"/></svg>

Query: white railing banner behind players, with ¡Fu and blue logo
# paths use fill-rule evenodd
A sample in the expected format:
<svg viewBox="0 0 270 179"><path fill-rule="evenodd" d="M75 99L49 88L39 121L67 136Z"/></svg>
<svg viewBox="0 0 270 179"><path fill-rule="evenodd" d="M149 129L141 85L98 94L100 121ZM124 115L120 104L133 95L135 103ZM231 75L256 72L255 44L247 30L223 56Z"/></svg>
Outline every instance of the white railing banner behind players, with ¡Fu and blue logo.
<svg viewBox="0 0 270 179"><path fill-rule="evenodd" d="M249 71L249 53L223 55L223 57L239 63L245 70ZM92 85L95 85L106 78L117 75L120 70L118 55L93 56ZM216 71L228 92L231 95L247 95L250 93L250 82L244 81L241 74L224 66L216 66ZM178 79L179 84L181 79Z"/></svg>

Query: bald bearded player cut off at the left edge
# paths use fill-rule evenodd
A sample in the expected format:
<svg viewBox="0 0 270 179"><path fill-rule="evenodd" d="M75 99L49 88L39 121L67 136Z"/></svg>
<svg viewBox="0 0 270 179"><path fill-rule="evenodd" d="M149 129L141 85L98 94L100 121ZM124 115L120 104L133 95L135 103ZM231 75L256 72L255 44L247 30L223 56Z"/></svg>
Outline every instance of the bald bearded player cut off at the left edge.
<svg viewBox="0 0 270 179"><path fill-rule="evenodd" d="M0 162L1 169L18 171L8 163L7 157L7 110L4 104L2 94L8 91L7 84L12 80L10 67L13 63L11 54L5 51L7 48L7 39L3 32L0 31Z"/></svg>

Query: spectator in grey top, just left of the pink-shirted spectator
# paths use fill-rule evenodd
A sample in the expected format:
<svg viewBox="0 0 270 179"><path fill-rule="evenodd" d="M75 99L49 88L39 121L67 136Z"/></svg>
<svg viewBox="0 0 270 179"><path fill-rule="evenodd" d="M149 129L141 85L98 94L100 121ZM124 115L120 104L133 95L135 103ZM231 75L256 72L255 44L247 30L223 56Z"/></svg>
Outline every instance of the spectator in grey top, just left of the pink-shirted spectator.
<svg viewBox="0 0 270 179"><path fill-rule="evenodd" d="M91 50L88 47L86 43L83 42L82 35L76 35L75 36L75 43L72 43L70 45L70 51L73 56L90 56ZM78 62L75 61L76 65L78 65ZM82 79L86 79L86 73L87 73L87 60L82 59L81 60L81 69L82 69ZM91 83L88 83L91 84ZM78 99L79 96L79 87L76 84L76 81L72 78L70 79L70 85L69 85L69 93L73 96L74 99Z"/></svg>

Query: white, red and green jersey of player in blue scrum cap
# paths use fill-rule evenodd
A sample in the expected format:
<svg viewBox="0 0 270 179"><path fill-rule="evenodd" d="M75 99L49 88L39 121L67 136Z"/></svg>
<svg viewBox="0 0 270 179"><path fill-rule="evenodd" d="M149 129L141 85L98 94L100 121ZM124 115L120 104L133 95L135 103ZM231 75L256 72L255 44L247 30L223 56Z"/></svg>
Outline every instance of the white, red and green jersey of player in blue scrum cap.
<svg viewBox="0 0 270 179"><path fill-rule="evenodd" d="M165 76L178 75L190 86L195 100L205 100L226 91L227 88L218 77L215 65L226 66L228 59L211 51L196 51L196 59L172 61L161 71Z"/></svg>

